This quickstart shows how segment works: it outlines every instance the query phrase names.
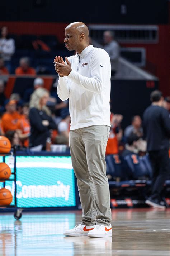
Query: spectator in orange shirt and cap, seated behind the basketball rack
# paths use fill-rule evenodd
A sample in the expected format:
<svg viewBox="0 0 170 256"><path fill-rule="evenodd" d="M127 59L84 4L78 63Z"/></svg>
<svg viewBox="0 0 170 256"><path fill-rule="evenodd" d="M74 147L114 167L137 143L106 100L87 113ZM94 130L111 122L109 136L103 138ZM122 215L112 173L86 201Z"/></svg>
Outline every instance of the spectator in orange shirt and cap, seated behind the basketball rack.
<svg viewBox="0 0 170 256"><path fill-rule="evenodd" d="M6 133L9 130L17 130L19 128L19 120L22 116L16 110L16 101L7 100L6 112L2 116L2 129Z"/></svg>

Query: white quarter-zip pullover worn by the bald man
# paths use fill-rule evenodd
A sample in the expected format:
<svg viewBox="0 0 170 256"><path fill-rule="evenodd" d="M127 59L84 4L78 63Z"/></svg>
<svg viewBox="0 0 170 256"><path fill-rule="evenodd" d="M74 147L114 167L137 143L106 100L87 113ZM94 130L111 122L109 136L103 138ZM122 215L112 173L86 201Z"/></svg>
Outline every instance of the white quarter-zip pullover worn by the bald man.
<svg viewBox="0 0 170 256"><path fill-rule="evenodd" d="M72 71L58 80L61 100L69 98L70 130L91 125L110 126L110 76L108 53L93 45L68 57Z"/></svg>

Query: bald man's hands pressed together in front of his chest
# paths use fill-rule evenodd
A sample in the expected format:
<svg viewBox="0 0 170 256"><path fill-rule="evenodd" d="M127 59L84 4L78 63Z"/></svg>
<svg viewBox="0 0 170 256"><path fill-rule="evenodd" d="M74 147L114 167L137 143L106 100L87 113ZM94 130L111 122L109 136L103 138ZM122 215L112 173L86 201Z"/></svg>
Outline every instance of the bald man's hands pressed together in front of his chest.
<svg viewBox="0 0 170 256"><path fill-rule="evenodd" d="M71 72L71 63L68 61L67 57L65 57L66 63L63 58L60 56L56 56L54 59L54 66L56 72L61 76L68 76Z"/></svg>

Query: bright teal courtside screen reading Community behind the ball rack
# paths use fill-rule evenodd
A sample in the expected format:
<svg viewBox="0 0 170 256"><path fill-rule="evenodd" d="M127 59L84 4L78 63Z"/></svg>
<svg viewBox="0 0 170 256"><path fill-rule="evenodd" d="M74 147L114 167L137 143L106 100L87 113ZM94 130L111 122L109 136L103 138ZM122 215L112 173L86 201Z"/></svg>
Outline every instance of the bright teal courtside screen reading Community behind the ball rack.
<svg viewBox="0 0 170 256"><path fill-rule="evenodd" d="M8 156L5 162L9 164ZM18 207L76 206L70 156L16 156L16 168ZM5 184L14 197L14 181Z"/></svg>

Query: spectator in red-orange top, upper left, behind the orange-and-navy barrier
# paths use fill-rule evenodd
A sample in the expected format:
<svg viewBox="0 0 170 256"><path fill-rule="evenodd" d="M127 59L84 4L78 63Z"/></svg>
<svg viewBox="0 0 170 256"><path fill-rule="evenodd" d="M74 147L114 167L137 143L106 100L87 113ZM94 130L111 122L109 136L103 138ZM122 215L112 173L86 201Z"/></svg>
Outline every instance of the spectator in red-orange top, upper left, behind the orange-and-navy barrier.
<svg viewBox="0 0 170 256"><path fill-rule="evenodd" d="M36 70L30 67L30 59L28 57L20 58L19 65L15 69L16 75L36 75Z"/></svg>

